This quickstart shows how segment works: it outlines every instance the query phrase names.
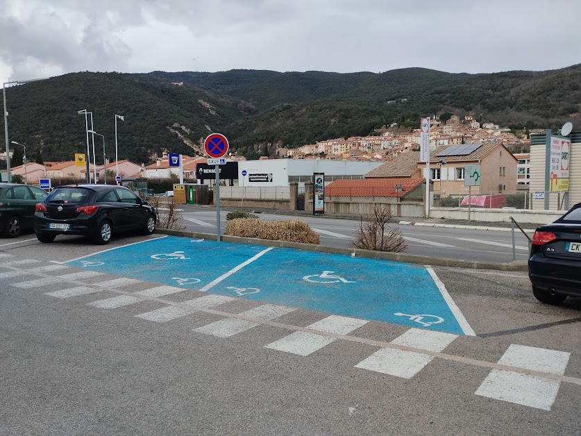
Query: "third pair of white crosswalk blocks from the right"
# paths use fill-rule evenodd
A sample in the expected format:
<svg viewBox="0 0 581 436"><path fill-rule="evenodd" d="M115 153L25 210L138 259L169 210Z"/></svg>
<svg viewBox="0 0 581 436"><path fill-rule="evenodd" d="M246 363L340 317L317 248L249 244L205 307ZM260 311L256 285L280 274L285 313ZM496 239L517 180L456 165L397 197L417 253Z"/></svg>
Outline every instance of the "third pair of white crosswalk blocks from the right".
<svg viewBox="0 0 581 436"><path fill-rule="evenodd" d="M314 324L310 324L307 328L312 330L321 330L328 333L337 333L338 335L347 335L356 328L364 326L369 321L364 319L355 319L348 317L340 317L339 315L331 315ZM278 351L285 351L285 353L292 353L302 356L310 355L315 351L323 348L335 341L335 337L317 335L315 333L298 331L291 333L288 336L278 339L278 341L265 345L267 349Z"/></svg>

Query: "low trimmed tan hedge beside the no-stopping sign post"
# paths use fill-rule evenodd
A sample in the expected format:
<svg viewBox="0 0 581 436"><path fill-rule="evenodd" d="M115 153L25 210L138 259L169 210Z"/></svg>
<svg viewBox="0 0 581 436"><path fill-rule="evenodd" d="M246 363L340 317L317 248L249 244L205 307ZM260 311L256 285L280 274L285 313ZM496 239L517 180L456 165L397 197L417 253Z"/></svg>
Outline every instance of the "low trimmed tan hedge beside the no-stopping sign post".
<svg viewBox="0 0 581 436"><path fill-rule="evenodd" d="M321 237L305 221L260 221L253 218L230 219L226 223L226 235L255 237L261 240L303 242L319 244Z"/></svg>

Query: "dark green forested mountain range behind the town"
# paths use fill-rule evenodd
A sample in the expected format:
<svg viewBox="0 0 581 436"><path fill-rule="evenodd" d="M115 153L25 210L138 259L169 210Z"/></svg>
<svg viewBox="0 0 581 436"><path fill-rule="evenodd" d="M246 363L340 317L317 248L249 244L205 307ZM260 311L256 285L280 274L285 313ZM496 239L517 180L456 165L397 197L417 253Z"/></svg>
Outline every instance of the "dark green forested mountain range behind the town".
<svg viewBox="0 0 581 436"><path fill-rule="evenodd" d="M368 135L392 122L412 128L421 116L439 112L471 113L513 128L555 128L564 121L581 127L581 65L496 74L83 72L9 87L6 94L10 140L26 144L29 157L41 149L44 160L86 151L85 120L77 114L85 108L112 158L114 116L124 115L119 158L146 164L163 149L201 153L211 131L226 134L234 151L253 154L276 144ZM4 144L3 126L0 134ZM100 161L101 137L95 143Z"/></svg>

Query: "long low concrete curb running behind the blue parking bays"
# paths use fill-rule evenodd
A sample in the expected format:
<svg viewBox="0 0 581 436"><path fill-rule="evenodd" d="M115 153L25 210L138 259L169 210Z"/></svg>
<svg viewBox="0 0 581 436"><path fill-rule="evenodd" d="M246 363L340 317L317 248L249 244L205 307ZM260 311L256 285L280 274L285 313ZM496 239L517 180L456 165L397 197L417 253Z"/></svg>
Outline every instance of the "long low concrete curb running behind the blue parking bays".
<svg viewBox="0 0 581 436"><path fill-rule="evenodd" d="M158 228L155 230L157 233L162 235L173 235L181 237L193 237L193 238L203 238L206 240L215 241L216 235L209 233L197 233L190 232L186 230L173 230L167 228ZM434 258L430 256L421 256L415 254L407 253L388 253L385 251L372 251L372 250L362 250L362 249L347 249L333 246L324 245L313 245L313 244L302 244L299 242L286 242L286 241L270 241L270 240L259 240L251 237L238 237L238 236L228 236L223 235L222 240L224 242L233 242L236 244L253 244L262 246L274 246L284 249L298 249L305 251L316 251L318 253L333 253L333 254L344 254L353 255L360 258L370 258L370 259L382 259L382 260L394 260L396 262L406 262L406 263L416 263L419 265L430 265L437 267L455 267L455 268L469 268L469 269L496 269L498 271L528 271L528 266L525 261L517 260L516 262L510 263L494 263L494 262L473 262L471 260L462 259L446 259L446 258Z"/></svg>

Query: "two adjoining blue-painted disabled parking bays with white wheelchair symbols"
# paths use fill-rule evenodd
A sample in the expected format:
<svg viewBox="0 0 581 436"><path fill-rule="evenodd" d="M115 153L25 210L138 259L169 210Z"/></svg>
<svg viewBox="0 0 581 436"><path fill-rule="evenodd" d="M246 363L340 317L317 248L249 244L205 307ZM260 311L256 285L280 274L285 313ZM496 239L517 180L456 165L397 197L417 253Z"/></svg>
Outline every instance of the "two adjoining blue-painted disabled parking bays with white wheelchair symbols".
<svg viewBox="0 0 581 436"><path fill-rule="evenodd" d="M69 265L371 321L459 335L471 331L421 265L174 236Z"/></svg>

